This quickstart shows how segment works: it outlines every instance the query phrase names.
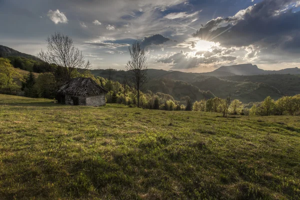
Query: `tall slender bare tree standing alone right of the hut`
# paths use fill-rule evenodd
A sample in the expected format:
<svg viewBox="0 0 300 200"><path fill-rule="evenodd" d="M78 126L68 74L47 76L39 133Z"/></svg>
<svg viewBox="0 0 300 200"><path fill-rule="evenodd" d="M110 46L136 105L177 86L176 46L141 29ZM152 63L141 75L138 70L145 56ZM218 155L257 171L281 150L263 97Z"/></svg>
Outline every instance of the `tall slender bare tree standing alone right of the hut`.
<svg viewBox="0 0 300 200"><path fill-rule="evenodd" d="M140 41L134 41L129 46L130 60L127 62L127 84L134 88L139 107L139 93L143 84L147 81L147 58L144 50L140 47Z"/></svg>

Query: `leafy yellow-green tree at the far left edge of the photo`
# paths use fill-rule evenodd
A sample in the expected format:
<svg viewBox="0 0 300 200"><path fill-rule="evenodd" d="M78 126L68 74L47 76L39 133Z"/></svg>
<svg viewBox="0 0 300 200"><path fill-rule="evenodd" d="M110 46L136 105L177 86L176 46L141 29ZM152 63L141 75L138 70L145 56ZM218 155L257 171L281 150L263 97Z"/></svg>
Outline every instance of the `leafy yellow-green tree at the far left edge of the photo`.
<svg viewBox="0 0 300 200"><path fill-rule="evenodd" d="M9 59L0 58L0 89L4 92L8 91L9 93L13 93L19 89L13 77L19 79L20 74L10 64Z"/></svg>

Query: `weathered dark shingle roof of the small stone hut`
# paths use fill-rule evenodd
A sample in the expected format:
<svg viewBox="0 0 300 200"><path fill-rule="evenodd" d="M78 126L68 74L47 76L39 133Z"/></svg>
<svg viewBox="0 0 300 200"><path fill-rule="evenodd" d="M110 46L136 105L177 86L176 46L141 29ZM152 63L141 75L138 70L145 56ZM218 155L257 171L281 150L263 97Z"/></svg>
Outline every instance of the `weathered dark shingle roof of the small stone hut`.
<svg viewBox="0 0 300 200"><path fill-rule="evenodd" d="M107 93L107 91L91 78L77 77L62 85L57 93L71 96L93 96Z"/></svg>

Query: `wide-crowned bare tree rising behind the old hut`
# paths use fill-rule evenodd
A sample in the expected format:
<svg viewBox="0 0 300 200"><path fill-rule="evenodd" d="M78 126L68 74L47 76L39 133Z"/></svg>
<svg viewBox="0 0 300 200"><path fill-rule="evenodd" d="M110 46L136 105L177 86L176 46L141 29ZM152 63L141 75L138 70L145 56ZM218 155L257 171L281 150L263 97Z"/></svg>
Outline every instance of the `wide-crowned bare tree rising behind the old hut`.
<svg viewBox="0 0 300 200"><path fill-rule="evenodd" d="M73 40L68 35L55 32L46 41L47 51L41 50L37 56L45 62L62 66L65 81L90 67L90 62L85 61L82 52L73 45Z"/></svg>

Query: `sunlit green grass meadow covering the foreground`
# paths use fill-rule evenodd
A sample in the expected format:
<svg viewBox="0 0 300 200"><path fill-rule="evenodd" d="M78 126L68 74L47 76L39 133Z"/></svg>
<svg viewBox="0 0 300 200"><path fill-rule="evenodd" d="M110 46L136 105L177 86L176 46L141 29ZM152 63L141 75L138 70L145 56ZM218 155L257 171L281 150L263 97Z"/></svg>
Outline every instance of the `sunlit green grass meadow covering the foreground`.
<svg viewBox="0 0 300 200"><path fill-rule="evenodd" d="M299 199L300 117L0 95L0 199Z"/></svg>

